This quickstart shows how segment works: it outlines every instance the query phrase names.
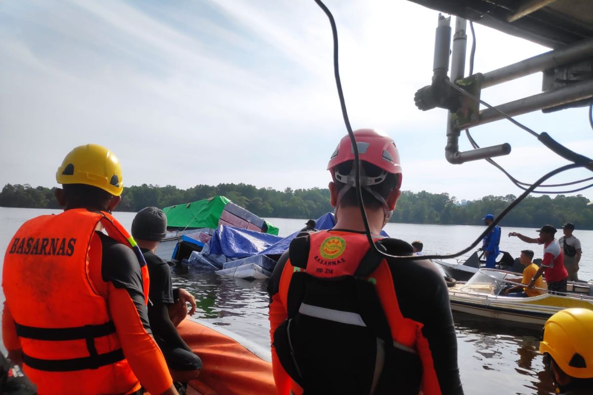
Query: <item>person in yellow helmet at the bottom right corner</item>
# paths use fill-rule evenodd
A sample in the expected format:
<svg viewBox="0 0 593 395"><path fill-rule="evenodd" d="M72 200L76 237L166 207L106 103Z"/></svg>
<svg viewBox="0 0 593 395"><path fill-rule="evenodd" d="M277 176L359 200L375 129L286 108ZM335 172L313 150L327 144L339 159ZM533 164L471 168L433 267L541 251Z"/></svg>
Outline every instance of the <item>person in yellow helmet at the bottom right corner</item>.
<svg viewBox="0 0 593 395"><path fill-rule="evenodd" d="M593 311L566 309L547 320L540 352L565 395L593 394Z"/></svg>

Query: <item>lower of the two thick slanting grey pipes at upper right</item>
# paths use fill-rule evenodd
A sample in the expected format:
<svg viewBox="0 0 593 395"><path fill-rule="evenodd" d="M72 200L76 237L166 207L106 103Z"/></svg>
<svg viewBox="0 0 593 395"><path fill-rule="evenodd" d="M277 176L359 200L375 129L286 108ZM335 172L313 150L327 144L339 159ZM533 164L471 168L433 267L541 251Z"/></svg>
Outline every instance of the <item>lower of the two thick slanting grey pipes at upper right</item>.
<svg viewBox="0 0 593 395"><path fill-rule="evenodd" d="M537 95L500 104L496 108L514 117L515 115L530 113L531 111L541 110L542 108L554 107L591 97L593 97L593 80L579 82L578 84L565 86L554 91L542 92ZM459 129L498 121L502 118L503 115L498 113L498 111L487 108L480 111L480 117L477 122L460 125Z"/></svg>

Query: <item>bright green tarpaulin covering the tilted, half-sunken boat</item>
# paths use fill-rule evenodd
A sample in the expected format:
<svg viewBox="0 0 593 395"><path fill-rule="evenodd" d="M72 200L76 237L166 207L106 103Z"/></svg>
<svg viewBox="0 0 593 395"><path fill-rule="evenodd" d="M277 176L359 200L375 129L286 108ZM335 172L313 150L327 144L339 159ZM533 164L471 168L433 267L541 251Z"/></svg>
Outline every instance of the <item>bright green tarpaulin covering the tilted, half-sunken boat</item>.
<svg viewBox="0 0 593 395"><path fill-rule="evenodd" d="M224 196L193 201L187 204L176 204L162 209L167 216L167 227L192 229L208 227L216 229L218 221L227 203L231 201ZM267 232L278 235L278 228L266 221Z"/></svg>

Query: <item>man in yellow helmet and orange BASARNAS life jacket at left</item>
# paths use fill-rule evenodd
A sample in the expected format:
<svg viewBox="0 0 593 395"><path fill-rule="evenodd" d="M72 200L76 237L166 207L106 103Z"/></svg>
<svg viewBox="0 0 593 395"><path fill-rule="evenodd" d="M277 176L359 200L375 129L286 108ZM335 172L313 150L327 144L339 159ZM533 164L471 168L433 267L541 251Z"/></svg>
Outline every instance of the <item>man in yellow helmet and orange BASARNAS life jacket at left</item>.
<svg viewBox="0 0 593 395"><path fill-rule="evenodd" d="M4 258L2 335L39 394L177 394L146 315L148 271L110 212L122 169L105 147L73 149L56 172L64 212L29 220ZM105 233L103 233L105 231Z"/></svg>

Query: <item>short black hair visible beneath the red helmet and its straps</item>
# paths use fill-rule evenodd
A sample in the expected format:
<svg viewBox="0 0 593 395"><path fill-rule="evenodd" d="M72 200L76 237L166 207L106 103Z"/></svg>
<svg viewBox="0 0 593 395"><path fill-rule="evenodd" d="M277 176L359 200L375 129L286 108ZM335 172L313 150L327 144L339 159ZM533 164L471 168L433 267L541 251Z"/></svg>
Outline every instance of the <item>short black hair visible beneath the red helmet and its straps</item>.
<svg viewBox="0 0 593 395"><path fill-rule="evenodd" d="M376 177L382 173L382 169L378 166L373 165L372 163L362 161L362 168L365 171L365 174L369 177ZM352 168L354 166L354 160L347 160L346 162L340 163L334 169L340 172L340 174L350 174ZM378 192L385 200L389 196L390 192L396 189L399 180L399 174L391 174L388 173L387 177L385 177L384 181L381 184L371 185L369 188L371 190ZM343 182L337 181L335 177L333 177L333 181L336 184L337 191L339 192L342 190L343 187L346 186ZM362 201L366 207L369 208L382 208L383 204L377 200L372 194L362 190ZM346 194L342 197L342 200L339 204L344 206L356 206L358 205L358 199L356 198L356 188L351 188Z"/></svg>

